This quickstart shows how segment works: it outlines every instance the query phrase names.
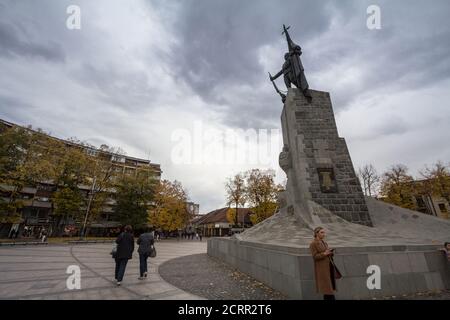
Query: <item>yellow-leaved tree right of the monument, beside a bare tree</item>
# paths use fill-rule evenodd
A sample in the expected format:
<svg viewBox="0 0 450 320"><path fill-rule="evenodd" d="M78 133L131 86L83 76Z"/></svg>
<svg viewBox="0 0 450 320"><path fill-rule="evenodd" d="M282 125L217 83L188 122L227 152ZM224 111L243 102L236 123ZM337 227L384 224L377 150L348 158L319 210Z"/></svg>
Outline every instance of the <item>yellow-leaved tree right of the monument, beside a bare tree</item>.
<svg viewBox="0 0 450 320"><path fill-rule="evenodd" d="M408 174L408 168L398 164L386 171L381 181L380 194L385 202L414 210L414 179Z"/></svg>

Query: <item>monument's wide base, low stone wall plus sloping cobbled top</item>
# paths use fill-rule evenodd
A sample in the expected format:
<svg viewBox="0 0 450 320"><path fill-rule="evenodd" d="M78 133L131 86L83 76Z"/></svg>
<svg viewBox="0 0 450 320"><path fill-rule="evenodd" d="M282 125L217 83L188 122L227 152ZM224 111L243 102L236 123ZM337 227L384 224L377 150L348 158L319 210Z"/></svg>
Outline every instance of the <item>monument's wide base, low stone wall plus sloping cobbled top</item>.
<svg viewBox="0 0 450 320"><path fill-rule="evenodd" d="M321 209L326 241L336 248L337 299L371 299L450 289L443 252L450 221L366 198L374 227L347 222ZM313 205L313 204L311 204ZM318 206L317 204L315 204ZM317 208L316 212L317 212ZM292 299L321 299L309 243L313 231L283 208L232 238L208 240L208 255L222 260ZM381 270L381 289L369 290L370 265Z"/></svg>

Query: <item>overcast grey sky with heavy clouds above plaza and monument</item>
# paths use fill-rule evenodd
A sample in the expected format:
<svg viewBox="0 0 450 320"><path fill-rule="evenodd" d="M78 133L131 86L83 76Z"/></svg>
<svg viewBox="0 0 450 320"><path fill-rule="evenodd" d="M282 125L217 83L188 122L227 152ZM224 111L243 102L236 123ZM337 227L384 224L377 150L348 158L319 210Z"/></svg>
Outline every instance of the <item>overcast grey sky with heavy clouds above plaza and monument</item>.
<svg viewBox="0 0 450 320"><path fill-rule="evenodd" d="M380 30L367 28L371 4ZM66 26L69 5L79 30ZM416 175L450 160L449 14L447 0L0 0L0 118L149 158L206 213L239 171L285 179L267 72L281 68L287 24L310 88L331 93L355 168L403 163ZM261 148L208 140L236 129L274 129L269 159L221 162Z"/></svg>

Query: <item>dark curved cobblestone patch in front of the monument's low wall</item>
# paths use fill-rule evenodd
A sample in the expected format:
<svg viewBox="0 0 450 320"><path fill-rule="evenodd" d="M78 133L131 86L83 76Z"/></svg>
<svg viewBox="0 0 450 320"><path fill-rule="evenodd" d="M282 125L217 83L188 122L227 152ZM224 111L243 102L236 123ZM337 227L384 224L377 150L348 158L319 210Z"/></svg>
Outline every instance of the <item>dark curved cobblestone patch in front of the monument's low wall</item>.
<svg viewBox="0 0 450 320"><path fill-rule="evenodd" d="M209 257L196 254L165 262L159 269L167 282L212 300L284 300L281 293Z"/></svg>

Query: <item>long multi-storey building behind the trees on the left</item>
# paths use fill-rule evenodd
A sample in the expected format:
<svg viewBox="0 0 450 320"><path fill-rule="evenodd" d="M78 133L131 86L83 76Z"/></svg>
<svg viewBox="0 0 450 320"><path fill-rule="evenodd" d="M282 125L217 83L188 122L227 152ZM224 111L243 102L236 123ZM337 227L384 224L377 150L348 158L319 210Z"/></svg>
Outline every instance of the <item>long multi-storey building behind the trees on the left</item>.
<svg viewBox="0 0 450 320"><path fill-rule="evenodd" d="M19 127L13 123L0 120L0 132L3 132L12 127ZM31 132L34 132L31 129ZM150 160L134 158L126 155L119 155L107 152L103 149L97 149L91 146L76 144L72 141L61 140L56 137L51 139L62 141L67 147L80 148L90 157L102 157L111 161L115 176L133 175L139 170L151 170L154 179L161 179L161 167L159 164L152 163ZM88 203L88 199L93 190L92 185L78 185L79 191ZM55 235L56 226L58 230L62 229L62 235L78 235L83 219L68 216L65 221L60 221L60 218L55 216L55 204L52 202L53 194L58 190L58 186L51 181L40 181L35 186L25 186L20 190L20 197L23 207L20 209L21 221L17 223L2 224L0 227L0 237L38 237L42 230L46 230L49 236ZM109 190L114 194L115 190ZM8 201L9 194L12 192L12 187L0 184L0 197ZM120 228L120 223L115 220L114 208L115 200L113 197L108 198L102 208L102 212L98 215L96 221L88 225L89 235L110 236L115 235ZM82 212L87 211L87 205L81 207Z"/></svg>

